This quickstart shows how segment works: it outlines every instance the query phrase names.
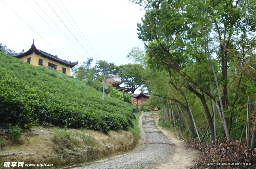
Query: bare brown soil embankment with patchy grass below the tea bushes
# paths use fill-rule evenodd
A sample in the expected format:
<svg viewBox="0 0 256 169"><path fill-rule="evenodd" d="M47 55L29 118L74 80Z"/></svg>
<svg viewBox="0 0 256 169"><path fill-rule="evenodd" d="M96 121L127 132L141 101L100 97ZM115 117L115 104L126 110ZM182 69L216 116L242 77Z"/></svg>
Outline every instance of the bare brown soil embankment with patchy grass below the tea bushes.
<svg viewBox="0 0 256 169"><path fill-rule="evenodd" d="M0 133L3 135L4 131ZM0 167L4 162L22 161L51 163L54 168L123 154L134 149L138 143L131 131L111 130L109 134L104 134L94 130L43 127L23 132L18 144L12 144L8 137L3 141Z"/></svg>

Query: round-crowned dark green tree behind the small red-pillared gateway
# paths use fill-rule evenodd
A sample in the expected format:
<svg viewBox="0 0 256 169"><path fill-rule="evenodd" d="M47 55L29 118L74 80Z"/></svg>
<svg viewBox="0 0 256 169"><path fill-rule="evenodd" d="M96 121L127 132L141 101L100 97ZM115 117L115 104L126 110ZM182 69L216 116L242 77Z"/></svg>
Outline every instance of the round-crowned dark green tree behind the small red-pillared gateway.
<svg viewBox="0 0 256 169"><path fill-rule="evenodd" d="M122 82L124 82L125 87L129 88L132 93L144 84L144 80L141 77L141 71L143 71L143 69L140 64L129 63L119 66L119 77Z"/></svg>

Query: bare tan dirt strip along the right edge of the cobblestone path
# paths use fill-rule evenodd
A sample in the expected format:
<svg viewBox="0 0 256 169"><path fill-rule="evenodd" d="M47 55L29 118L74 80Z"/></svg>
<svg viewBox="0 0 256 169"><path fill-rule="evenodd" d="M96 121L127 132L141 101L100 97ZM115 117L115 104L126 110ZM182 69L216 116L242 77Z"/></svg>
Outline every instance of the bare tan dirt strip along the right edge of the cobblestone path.
<svg viewBox="0 0 256 169"><path fill-rule="evenodd" d="M158 125L158 119L160 115L154 114L154 121L159 130L163 131L163 134L176 145L175 153L172 158L172 163L165 163L159 165L156 169L170 169L170 168L188 168L189 165L193 164L193 159L198 151L194 149L188 149L185 147L186 143L179 140L176 135L174 135L170 130L166 130Z"/></svg>

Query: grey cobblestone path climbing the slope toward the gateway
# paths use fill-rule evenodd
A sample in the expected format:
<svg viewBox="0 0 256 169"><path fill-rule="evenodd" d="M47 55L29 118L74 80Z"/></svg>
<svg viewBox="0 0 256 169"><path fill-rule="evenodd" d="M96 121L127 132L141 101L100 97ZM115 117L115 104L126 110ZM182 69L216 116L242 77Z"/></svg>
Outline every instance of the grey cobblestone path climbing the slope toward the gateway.
<svg viewBox="0 0 256 169"><path fill-rule="evenodd" d="M156 168L157 164L172 163L170 159L175 151L174 144L169 141L154 125L153 114L144 112L142 127L146 133L148 145L131 154L123 155L101 163L93 163L80 169L147 169Z"/></svg>

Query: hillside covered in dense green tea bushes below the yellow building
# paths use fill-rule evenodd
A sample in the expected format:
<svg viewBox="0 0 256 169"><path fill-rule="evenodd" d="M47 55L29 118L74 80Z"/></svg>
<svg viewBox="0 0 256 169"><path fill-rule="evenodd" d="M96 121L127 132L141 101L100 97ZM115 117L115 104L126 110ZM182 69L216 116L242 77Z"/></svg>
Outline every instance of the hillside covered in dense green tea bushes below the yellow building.
<svg viewBox="0 0 256 169"><path fill-rule="evenodd" d="M26 127L39 119L107 133L133 126L136 112L119 99L102 100L101 92L74 78L0 52L0 123Z"/></svg>

